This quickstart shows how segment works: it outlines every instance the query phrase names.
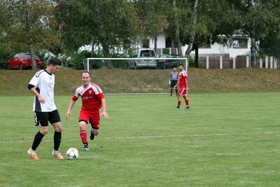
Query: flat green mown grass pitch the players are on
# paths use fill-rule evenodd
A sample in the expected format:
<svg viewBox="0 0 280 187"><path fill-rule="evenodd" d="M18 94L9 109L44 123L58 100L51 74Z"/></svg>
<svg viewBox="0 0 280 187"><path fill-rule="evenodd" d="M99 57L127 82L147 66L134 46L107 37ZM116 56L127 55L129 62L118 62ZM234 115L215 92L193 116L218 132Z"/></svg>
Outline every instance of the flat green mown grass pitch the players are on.
<svg viewBox="0 0 280 187"><path fill-rule="evenodd" d="M279 93L106 95L110 119L78 160L56 160L50 128L31 160L33 97L0 97L0 186L279 186ZM82 148L80 101L64 119L60 151ZM182 104L185 106L185 104ZM89 128L88 128L89 130ZM89 131L88 131L89 132Z"/></svg>

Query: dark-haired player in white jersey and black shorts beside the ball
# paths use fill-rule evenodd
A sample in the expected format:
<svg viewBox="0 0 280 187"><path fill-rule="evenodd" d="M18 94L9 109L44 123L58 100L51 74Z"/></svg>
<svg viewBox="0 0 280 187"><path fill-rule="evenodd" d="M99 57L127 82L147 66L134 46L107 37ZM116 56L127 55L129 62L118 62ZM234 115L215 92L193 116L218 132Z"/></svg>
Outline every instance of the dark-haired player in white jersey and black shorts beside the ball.
<svg viewBox="0 0 280 187"><path fill-rule="evenodd" d="M62 123L54 99L55 72L59 71L60 66L61 62L58 58L50 58L48 67L36 72L28 85L29 90L34 94L35 125L40 127L34 137L31 148L27 151L33 160L39 160L36 148L38 148L45 134L48 133L48 122L55 129L52 155L57 159L64 159L58 151L62 139Z"/></svg>

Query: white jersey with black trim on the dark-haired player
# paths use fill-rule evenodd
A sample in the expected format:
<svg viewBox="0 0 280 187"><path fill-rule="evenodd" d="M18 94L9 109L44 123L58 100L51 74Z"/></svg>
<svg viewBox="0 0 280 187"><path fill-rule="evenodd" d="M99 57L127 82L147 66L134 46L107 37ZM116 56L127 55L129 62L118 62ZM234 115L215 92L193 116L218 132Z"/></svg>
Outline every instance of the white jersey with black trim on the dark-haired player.
<svg viewBox="0 0 280 187"><path fill-rule="evenodd" d="M55 74L49 74L45 69L38 71L29 85L34 85L34 88L45 99L45 103L38 102L38 97L34 96L33 111L50 112L57 109L55 106Z"/></svg>

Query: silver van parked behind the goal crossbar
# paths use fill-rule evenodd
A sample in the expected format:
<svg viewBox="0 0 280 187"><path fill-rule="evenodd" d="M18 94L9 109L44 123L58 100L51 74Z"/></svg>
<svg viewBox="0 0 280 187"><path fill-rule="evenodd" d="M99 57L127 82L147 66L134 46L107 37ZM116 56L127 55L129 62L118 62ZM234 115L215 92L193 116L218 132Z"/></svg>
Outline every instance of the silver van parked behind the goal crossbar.
<svg viewBox="0 0 280 187"><path fill-rule="evenodd" d="M151 48L140 48L134 50L132 53L132 58L155 58L155 50ZM128 60L127 67L129 69L139 69L143 67L153 68L157 67L156 60Z"/></svg>

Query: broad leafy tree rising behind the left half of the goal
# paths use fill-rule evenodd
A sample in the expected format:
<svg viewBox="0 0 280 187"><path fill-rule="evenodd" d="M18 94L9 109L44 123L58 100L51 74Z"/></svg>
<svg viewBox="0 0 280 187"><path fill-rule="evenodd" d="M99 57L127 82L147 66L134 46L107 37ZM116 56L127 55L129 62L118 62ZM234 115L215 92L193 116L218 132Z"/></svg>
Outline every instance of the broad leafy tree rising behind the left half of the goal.
<svg viewBox="0 0 280 187"><path fill-rule="evenodd" d="M104 57L111 57L110 50L130 46L139 31L130 1L57 0L56 18L67 48L102 46ZM113 64L106 61L106 66Z"/></svg>

